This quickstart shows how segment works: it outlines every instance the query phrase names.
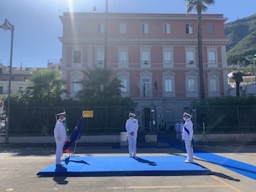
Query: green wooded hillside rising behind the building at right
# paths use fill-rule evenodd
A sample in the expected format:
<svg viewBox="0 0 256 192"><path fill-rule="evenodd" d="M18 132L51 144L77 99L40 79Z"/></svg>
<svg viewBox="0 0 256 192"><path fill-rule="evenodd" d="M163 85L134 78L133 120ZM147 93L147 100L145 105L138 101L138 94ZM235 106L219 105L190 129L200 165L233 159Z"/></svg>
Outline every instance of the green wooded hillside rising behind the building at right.
<svg viewBox="0 0 256 192"><path fill-rule="evenodd" d="M228 65L248 65L256 53L256 14L227 23L224 26Z"/></svg>

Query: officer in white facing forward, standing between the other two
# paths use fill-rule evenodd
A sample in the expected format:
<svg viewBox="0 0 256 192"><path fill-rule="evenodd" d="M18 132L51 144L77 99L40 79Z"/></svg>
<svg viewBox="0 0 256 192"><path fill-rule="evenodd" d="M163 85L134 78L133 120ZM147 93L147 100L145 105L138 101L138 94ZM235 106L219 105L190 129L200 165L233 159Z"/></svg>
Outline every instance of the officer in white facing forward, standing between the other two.
<svg viewBox="0 0 256 192"><path fill-rule="evenodd" d="M137 152L137 131L138 121L135 119L135 113L129 113L129 119L126 120L125 130L128 135L128 148L131 157L136 158Z"/></svg>

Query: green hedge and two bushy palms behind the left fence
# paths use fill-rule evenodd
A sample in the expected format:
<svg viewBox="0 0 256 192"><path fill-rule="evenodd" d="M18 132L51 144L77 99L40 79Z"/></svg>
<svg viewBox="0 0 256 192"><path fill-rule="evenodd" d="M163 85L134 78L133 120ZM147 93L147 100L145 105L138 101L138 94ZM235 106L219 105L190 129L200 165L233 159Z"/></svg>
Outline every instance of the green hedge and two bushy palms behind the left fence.
<svg viewBox="0 0 256 192"><path fill-rule="evenodd" d="M86 96L82 100L61 99L65 83L60 73L35 71L29 94L11 94L10 97L10 136L49 136L53 134L55 114L67 112L67 127L70 131L76 126L84 110L94 111L93 119L84 120L84 132L107 133L124 131L124 122L129 111L134 111L136 103L130 97L121 97L118 79L108 81L111 71L91 72L90 88L99 88L98 95ZM95 77L96 76L96 77ZM99 82L97 80L101 79ZM96 83L96 84L94 84ZM99 84L103 84L104 93ZM96 92L97 93L97 92ZM2 97L7 106L7 97Z"/></svg>

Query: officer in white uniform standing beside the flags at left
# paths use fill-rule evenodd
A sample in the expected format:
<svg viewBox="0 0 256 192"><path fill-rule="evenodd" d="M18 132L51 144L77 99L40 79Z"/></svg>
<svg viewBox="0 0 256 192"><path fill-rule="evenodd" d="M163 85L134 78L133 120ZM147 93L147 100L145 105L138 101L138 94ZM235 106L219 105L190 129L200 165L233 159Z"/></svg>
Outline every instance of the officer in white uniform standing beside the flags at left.
<svg viewBox="0 0 256 192"><path fill-rule="evenodd" d="M63 154L63 147L67 141L67 132L64 124L66 119L66 112L57 114L58 120L55 124L54 137L56 143L56 167L61 166L61 156Z"/></svg>

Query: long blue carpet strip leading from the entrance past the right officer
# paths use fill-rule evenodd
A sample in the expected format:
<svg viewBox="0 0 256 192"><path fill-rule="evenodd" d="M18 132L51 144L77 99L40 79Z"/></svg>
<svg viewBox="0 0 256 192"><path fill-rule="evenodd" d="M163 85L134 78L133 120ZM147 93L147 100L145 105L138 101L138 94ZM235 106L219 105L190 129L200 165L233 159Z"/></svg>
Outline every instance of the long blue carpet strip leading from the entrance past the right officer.
<svg viewBox="0 0 256 192"><path fill-rule="evenodd" d="M179 150L185 151L183 143L172 141L164 137L159 137L159 140L161 142L168 143L173 148L178 148ZM208 162L223 166L233 172L237 172L241 175L256 180L256 166L252 166L238 160L232 160L218 154L207 153L206 151L196 148L194 148L194 155L200 157L203 160L207 160Z"/></svg>

